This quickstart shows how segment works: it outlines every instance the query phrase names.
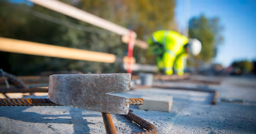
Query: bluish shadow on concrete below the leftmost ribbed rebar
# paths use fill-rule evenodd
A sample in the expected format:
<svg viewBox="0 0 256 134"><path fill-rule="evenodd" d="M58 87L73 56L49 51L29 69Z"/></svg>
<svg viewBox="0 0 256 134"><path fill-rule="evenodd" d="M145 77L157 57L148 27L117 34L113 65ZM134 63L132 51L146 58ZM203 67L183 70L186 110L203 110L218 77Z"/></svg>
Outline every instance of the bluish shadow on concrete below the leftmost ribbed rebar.
<svg viewBox="0 0 256 134"><path fill-rule="evenodd" d="M88 122L84 117L98 117L101 115L98 114L82 114L83 110L76 108L66 108L67 114L56 114L54 115L46 115L38 114L36 112L29 112L27 109L30 107L0 107L0 116L6 117L13 120L20 120L22 122L30 122L30 123L45 123L48 128L52 129L52 131L57 131L50 125L49 123L62 123L62 124L73 124L74 134L81 133L90 133L90 128L88 125L94 124L92 122ZM50 111L54 111L55 107L45 107L48 109L49 114L52 114ZM10 130L9 130L10 132ZM43 132L44 133L44 132Z"/></svg>

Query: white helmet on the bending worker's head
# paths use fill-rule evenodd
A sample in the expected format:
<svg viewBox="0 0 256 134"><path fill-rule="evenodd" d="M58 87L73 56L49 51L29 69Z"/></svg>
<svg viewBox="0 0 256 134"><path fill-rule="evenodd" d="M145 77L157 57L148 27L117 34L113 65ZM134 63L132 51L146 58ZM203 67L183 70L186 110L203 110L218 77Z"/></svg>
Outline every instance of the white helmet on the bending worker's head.
<svg viewBox="0 0 256 134"><path fill-rule="evenodd" d="M202 43L198 39L189 39L189 51L192 55L198 55L202 49Z"/></svg>

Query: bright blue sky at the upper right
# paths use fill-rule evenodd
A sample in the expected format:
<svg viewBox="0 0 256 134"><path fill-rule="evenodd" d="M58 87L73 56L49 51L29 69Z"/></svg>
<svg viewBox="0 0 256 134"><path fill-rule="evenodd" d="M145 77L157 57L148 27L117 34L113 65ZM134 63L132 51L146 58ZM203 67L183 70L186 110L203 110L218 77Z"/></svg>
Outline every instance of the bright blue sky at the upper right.
<svg viewBox="0 0 256 134"><path fill-rule="evenodd" d="M177 0L175 18L178 27L185 27L184 3ZM224 66L233 60L256 59L256 0L190 0L188 19L204 14L206 17L219 17L224 27L224 42L219 46L215 62Z"/></svg>

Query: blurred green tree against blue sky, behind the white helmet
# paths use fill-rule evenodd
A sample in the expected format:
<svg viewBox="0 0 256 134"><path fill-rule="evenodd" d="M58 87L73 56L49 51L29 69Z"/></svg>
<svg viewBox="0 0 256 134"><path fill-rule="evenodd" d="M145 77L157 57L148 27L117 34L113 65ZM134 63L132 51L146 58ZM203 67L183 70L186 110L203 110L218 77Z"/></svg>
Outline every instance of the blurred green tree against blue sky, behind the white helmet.
<svg viewBox="0 0 256 134"><path fill-rule="evenodd" d="M222 43L219 18L206 18L201 15L189 21L189 37L199 39L202 43L202 51L196 56L203 61L211 61L217 55L217 46Z"/></svg>

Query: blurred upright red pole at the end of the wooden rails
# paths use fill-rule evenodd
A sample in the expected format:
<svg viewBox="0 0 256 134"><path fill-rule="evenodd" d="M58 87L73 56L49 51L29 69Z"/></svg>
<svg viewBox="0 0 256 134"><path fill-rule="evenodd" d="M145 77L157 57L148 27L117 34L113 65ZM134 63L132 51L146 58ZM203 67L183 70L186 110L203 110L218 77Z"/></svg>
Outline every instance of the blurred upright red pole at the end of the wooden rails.
<svg viewBox="0 0 256 134"><path fill-rule="evenodd" d="M132 74L132 57L133 57L133 47L134 47L134 37L133 37L134 32L131 30L130 34L129 34L129 42L128 42L128 58L129 58L129 62L128 62L128 69L127 69L127 73L131 73Z"/></svg>

